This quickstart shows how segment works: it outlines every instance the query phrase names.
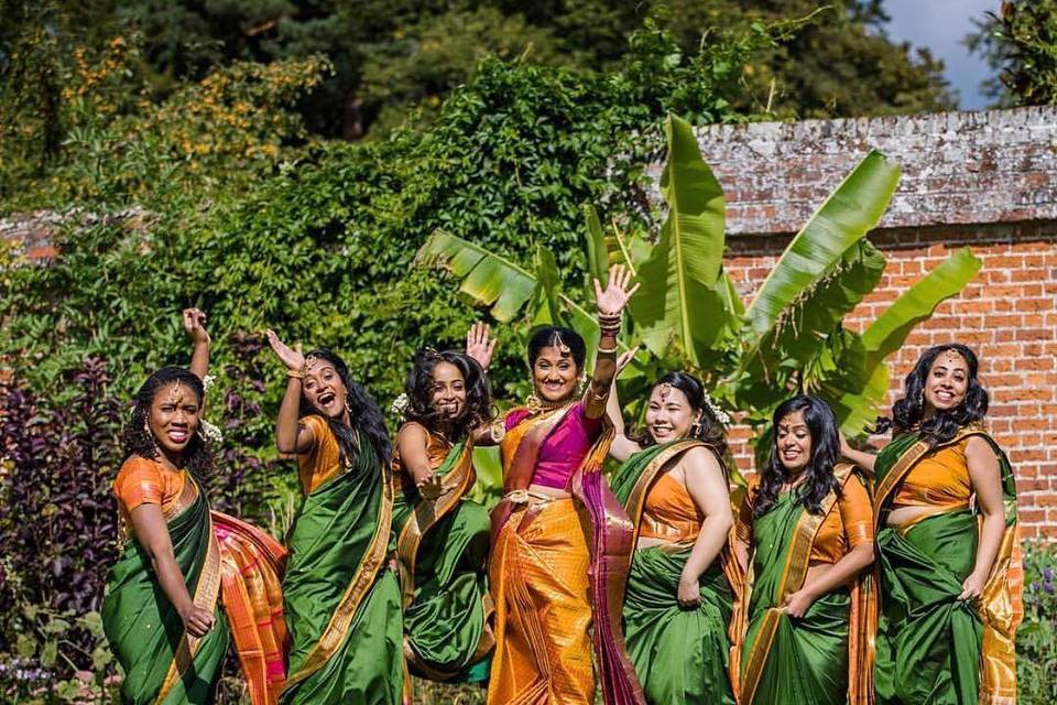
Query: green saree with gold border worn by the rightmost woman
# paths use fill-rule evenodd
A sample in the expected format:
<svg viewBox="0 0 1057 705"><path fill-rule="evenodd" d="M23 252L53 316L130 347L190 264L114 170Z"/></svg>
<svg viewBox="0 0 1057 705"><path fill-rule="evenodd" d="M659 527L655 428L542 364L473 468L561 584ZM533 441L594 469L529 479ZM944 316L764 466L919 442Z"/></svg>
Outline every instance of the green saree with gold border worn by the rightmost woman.
<svg viewBox="0 0 1057 705"><path fill-rule="evenodd" d="M929 452L916 434L900 436L878 456L878 571L882 622L878 633L878 698L882 703L1004 705L1016 702L1014 637L1023 617L1016 487L1005 454L982 429L1002 471L1006 530L999 555L973 605L959 600L972 572L979 519L968 507L927 516L905 527L884 518L894 490Z"/></svg>

